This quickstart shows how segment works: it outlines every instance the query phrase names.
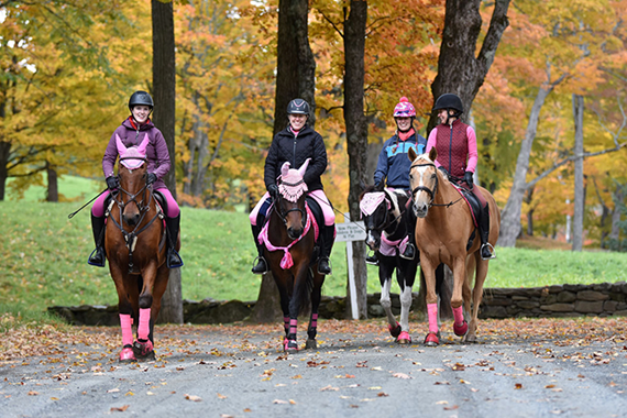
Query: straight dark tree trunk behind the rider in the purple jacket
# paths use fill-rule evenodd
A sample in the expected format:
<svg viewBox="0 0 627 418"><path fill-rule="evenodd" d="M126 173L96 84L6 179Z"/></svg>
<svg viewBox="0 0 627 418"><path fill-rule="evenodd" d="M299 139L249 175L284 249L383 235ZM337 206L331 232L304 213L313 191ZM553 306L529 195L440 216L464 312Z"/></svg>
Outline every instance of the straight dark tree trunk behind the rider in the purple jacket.
<svg viewBox="0 0 627 418"><path fill-rule="evenodd" d="M153 98L154 124L162 131L169 153L169 173L164 180L176 199L175 111L176 73L174 53L173 3L152 0L153 20ZM160 322L183 323L180 268L169 271L169 282L162 299Z"/></svg>

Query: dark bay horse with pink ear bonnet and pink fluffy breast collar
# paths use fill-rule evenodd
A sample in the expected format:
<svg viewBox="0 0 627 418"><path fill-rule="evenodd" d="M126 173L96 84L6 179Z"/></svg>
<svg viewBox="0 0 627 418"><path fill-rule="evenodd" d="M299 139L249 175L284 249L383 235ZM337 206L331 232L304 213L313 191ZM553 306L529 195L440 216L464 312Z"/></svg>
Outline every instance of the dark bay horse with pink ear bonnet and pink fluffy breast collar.
<svg viewBox="0 0 627 418"><path fill-rule="evenodd" d="M314 216L305 204L307 185L302 175L309 158L298 169L285 163L278 183L279 196L273 202L270 220L260 233L265 245L264 256L280 295L285 338L283 348L288 353L298 351L296 330L298 314L311 301L311 317L307 329L306 349L316 349L318 307L324 275L316 267L315 244L318 232Z"/></svg>

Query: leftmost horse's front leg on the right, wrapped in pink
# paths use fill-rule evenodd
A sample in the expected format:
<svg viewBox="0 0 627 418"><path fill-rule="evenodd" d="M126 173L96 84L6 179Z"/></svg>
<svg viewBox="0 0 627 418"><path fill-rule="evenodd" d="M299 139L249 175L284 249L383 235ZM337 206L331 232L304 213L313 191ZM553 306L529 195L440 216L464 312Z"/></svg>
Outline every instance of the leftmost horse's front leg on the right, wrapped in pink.
<svg viewBox="0 0 627 418"><path fill-rule="evenodd" d="M156 262L151 262L145 268L142 268L142 278L143 287L140 294L138 340L133 343L133 351L139 360L154 360L155 353L152 334L154 319L156 319L156 317L154 319L152 318L151 307L153 305L153 287L156 280Z"/></svg>

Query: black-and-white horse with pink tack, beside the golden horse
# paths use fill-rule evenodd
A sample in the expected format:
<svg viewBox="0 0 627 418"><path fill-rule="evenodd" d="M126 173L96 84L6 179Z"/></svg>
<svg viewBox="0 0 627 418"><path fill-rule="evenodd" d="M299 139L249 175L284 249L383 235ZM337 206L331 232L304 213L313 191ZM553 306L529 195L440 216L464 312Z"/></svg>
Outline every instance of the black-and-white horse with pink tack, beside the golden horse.
<svg viewBox="0 0 627 418"><path fill-rule="evenodd" d="M418 270L418 254L414 260L400 257L407 245L406 205L409 196L404 190L366 186L360 196L360 210L366 228L366 244L377 251L378 279L381 282L381 306L387 316L387 328L399 344L411 342L409 336L409 309L411 308L411 287ZM400 323L392 312L389 288L392 275L396 270L396 280L400 286Z"/></svg>

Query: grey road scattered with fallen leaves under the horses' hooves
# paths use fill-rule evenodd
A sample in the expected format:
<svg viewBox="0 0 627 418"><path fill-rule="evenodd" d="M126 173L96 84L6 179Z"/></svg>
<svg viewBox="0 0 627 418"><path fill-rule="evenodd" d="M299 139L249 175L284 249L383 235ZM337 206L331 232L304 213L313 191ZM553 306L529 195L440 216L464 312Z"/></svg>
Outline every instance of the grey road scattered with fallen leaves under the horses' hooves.
<svg viewBox="0 0 627 418"><path fill-rule="evenodd" d="M63 345L0 363L0 416L627 416L623 336L529 338L499 323L486 322L477 344L444 331L425 348L397 345L380 324L322 321L318 350L294 355L268 327L165 327L156 361L123 365L111 344Z"/></svg>

